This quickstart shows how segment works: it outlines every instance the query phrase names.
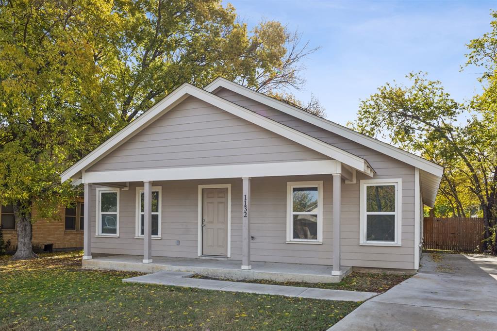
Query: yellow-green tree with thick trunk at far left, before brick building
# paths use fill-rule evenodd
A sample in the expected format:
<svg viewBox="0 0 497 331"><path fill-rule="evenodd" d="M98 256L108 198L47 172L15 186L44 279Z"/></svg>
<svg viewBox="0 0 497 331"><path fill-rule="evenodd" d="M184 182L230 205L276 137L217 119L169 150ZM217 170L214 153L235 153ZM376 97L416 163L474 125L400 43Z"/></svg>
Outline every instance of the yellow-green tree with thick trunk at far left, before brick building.
<svg viewBox="0 0 497 331"><path fill-rule="evenodd" d="M104 1L0 1L0 201L14 209L13 259L36 256L33 206L53 217L71 201L59 173L106 130L94 120L102 116L90 40L110 12Z"/></svg>

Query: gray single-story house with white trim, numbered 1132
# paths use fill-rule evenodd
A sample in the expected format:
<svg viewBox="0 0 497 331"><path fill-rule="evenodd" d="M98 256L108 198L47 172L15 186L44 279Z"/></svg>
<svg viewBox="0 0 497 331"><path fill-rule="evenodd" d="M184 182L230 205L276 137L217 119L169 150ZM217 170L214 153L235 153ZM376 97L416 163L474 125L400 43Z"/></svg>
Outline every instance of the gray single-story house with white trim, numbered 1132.
<svg viewBox="0 0 497 331"><path fill-rule="evenodd" d="M95 253L140 264L207 257L342 276L418 268L422 207L442 171L218 78L181 85L61 179L84 184L83 265L95 266Z"/></svg>

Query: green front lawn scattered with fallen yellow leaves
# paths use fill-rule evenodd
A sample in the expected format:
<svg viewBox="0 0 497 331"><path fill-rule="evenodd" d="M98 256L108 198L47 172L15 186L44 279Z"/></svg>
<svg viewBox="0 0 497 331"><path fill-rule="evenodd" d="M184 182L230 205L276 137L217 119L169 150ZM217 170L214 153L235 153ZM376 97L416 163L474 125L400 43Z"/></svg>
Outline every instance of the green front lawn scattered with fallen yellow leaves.
<svg viewBox="0 0 497 331"><path fill-rule="evenodd" d="M0 257L0 330L326 330L359 304L123 284L80 269L81 252Z"/></svg>

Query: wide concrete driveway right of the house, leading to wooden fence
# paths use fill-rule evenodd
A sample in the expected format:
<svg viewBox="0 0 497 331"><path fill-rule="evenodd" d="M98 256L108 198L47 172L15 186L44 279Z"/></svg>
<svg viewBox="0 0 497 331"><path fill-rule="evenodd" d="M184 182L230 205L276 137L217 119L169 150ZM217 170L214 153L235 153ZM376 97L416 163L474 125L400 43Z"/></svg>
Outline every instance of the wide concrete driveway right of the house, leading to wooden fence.
<svg viewBox="0 0 497 331"><path fill-rule="evenodd" d="M497 330L496 275L496 256L423 253L416 275L330 330Z"/></svg>

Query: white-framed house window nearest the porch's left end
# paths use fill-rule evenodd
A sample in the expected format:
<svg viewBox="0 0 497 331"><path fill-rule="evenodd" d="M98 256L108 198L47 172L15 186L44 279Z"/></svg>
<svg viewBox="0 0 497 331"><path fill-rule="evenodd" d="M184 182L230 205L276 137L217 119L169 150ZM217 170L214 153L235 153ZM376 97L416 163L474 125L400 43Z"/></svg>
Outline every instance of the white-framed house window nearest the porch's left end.
<svg viewBox="0 0 497 331"><path fill-rule="evenodd" d="M119 236L119 189L97 188L97 235Z"/></svg>

